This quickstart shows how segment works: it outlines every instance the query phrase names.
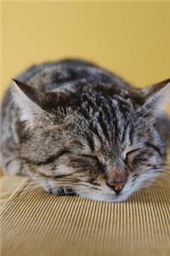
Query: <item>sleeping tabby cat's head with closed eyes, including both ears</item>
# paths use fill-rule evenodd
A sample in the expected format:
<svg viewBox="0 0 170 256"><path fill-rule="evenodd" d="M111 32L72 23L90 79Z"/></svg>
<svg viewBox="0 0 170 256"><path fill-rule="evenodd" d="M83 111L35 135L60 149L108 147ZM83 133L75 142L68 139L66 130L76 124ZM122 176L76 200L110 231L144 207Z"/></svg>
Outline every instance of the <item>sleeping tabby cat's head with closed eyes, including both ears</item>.
<svg viewBox="0 0 170 256"><path fill-rule="evenodd" d="M56 195L99 201L123 201L152 183L166 155L169 87L170 79L117 96L112 84L89 82L45 93L15 80L20 155L31 177Z"/></svg>

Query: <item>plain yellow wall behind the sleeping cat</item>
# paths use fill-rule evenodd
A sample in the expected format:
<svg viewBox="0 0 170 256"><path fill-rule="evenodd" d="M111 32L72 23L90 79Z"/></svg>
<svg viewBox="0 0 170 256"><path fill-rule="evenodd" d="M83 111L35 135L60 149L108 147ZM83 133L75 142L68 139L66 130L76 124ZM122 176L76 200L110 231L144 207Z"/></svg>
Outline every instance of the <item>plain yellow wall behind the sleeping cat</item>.
<svg viewBox="0 0 170 256"><path fill-rule="evenodd" d="M2 3L2 91L41 61L82 57L138 86L170 77L170 2Z"/></svg>

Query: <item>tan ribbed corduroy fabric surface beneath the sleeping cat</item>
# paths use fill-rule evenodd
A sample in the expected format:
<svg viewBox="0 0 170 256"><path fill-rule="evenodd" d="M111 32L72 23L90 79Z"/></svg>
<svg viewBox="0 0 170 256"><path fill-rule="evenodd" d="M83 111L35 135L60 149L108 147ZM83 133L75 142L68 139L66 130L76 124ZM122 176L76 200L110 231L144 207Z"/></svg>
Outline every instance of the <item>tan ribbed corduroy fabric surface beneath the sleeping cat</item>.
<svg viewBox="0 0 170 256"><path fill-rule="evenodd" d="M1 212L3 256L170 255L170 189L122 203L48 195L26 178Z"/></svg>

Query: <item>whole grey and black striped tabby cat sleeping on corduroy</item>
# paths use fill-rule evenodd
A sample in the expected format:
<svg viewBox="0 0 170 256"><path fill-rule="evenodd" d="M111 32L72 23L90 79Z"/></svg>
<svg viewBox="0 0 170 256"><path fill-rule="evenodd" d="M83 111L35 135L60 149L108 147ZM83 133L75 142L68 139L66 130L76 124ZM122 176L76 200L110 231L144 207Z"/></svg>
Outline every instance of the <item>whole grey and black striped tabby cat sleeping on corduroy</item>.
<svg viewBox="0 0 170 256"><path fill-rule="evenodd" d="M3 99L3 171L55 195L126 200L163 172L169 87L137 89L86 61L31 67Z"/></svg>

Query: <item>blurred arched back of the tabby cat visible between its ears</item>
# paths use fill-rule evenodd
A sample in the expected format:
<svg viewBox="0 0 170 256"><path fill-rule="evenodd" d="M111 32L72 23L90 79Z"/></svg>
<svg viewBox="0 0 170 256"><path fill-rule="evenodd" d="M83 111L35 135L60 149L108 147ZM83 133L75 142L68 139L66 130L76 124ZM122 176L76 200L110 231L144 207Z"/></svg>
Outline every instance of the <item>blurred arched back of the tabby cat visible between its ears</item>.
<svg viewBox="0 0 170 256"><path fill-rule="evenodd" d="M115 74L88 61L68 59L64 61L45 62L32 66L16 77L20 82L37 87L43 91L59 90L83 81L100 84L114 84L126 89L128 84Z"/></svg>

